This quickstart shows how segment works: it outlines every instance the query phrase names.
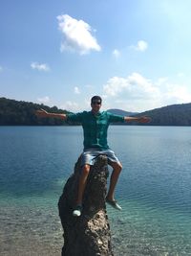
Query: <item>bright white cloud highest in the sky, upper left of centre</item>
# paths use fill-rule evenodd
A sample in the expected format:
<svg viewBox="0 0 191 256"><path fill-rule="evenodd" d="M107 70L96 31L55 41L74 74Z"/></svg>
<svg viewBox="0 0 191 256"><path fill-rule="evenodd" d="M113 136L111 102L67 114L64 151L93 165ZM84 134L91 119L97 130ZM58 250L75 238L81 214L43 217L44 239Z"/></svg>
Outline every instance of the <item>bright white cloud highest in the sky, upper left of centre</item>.
<svg viewBox="0 0 191 256"><path fill-rule="evenodd" d="M96 37L91 35L91 26L83 20L76 20L68 14L57 16L59 30L64 35L61 43L61 52L64 50L76 51L81 55L91 50L100 51Z"/></svg>

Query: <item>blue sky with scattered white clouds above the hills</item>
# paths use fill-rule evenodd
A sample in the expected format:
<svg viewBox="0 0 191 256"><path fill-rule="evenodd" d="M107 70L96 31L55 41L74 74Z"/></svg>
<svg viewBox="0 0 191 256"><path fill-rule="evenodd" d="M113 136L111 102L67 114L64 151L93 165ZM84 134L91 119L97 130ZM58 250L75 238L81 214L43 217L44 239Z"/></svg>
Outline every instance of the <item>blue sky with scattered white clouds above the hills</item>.
<svg viewBox="0 0 191 256"><path fill-rule="evenodd" d="M73 112L191 103L191 1L0 0L0 97Z"/></svg>

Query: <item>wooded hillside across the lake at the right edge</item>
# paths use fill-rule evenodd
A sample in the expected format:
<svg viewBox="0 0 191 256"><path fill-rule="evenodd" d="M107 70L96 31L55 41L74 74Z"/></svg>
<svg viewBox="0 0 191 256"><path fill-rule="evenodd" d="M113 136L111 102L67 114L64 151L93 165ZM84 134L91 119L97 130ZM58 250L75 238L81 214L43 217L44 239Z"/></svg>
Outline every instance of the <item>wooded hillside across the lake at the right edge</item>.
<svg viewBox="0 0 191 256"><path fill-rule="evenodd" d="M191 126L191 104L167 105L139 115L151 117L151 126Z"/></svg>

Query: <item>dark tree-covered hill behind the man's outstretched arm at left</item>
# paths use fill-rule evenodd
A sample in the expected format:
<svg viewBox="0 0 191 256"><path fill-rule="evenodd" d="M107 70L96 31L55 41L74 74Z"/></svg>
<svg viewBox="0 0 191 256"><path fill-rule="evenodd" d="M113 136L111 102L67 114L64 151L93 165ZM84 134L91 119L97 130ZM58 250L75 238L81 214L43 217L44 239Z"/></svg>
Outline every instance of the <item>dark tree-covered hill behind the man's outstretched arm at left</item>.
<svg viewBox="0 0 191 256"><path fill-rule="evenodd" d="M49 112L67 113L56 106L38 105L23 101L0 98L0 126L59 126L65 122L57 118L37 118L35 110L44 108Z"/></svg>

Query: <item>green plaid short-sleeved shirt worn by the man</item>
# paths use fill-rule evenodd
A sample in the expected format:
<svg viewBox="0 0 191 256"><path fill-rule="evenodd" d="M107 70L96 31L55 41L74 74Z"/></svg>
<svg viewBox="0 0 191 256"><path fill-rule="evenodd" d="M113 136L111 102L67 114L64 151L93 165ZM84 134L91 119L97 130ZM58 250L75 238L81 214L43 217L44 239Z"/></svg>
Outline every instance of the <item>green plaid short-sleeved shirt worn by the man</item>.
<svg viewBox="0 0 191 256"><path fill-rule="evenodd" d="M67 121L80 123L84 134L84 150L89 148L109 149L107 130L110 123L124 123L124 117L103 111L96 115L92 111L69 114Z"/></svg>

